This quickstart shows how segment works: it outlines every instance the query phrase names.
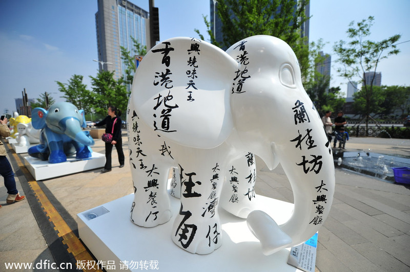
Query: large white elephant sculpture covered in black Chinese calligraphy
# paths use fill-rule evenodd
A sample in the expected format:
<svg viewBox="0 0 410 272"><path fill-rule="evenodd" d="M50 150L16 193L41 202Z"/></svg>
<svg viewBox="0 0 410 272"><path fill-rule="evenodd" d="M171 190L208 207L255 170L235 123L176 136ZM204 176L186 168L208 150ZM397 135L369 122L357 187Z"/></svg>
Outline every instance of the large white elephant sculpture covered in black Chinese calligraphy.
<svg viewBox="0 0 410 272"><path fill-rule="evenodd" d="M177 168L181 206L170 235L188 252L209 254L221 246L219 204L248 216L265 255L308 240L329 215L331 147L302 86L297 58L278 38L252 36L227 52L188 37L157 44L136 71L127 126L131 220L145 227L170 220L167 180L170 168ZM280 163L289 178L294 211L282 225L253 211L252 201L236 206L228 199L227 172L250 152L270 169ZM248 182L238 179L243 188ZM248 190L244 197L252 199L253 186Z"/></svg>

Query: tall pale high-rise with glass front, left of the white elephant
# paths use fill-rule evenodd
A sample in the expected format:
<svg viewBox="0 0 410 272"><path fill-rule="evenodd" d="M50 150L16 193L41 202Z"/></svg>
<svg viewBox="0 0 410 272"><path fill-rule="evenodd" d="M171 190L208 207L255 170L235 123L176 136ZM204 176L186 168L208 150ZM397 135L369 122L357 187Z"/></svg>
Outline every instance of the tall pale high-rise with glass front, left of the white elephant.
<svg viewBox="0 0 410 272"><path fill-rule="evenodd" d="M125 76L120 47L133 52L131 37L151 48L148 12L127 0L98 0L95 24L99 71L115 71L116 79Z"/></svg>

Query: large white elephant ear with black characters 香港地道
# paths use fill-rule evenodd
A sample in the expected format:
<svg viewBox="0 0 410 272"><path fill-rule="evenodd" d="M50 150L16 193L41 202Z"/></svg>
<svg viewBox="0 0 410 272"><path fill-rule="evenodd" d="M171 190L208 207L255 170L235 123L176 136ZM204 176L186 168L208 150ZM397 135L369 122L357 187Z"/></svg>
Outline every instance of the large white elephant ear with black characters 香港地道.
<svg viewBox="0 0 410 272"><path fill-rule="evenodd" d="M131 103L138 117L162 137L213 148L233 128L229 96L236 70L232 57L206 41L168 39L139 64Z"/></svg>

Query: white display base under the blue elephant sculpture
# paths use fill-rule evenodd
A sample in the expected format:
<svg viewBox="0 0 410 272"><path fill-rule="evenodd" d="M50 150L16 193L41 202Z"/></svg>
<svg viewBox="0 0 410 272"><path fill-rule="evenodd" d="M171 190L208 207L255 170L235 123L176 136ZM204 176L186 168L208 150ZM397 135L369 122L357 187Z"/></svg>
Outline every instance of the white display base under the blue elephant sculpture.
<svg viewBox="0 0 410 272"><path fill-rule="evenodd" d="M58 164L50 164L48 161L42 161L31 156L24 157L24 161L34 179L43 180L104 167L106 156L97 152L91 154L92 157L84 160L75 158L74 154L67 157L67 162Z"/></svg>

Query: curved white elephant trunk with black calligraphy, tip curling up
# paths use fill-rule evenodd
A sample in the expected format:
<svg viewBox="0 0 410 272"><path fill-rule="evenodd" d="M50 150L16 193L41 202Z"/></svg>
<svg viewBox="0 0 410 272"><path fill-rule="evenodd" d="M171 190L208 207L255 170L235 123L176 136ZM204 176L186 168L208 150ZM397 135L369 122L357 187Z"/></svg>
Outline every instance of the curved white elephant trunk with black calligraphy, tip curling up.
<svg viewBox="0 0 410 272"><path fill-rule="evenodd" d="M298 132L308 133L311 140L303 141ZM335 190L333 156L320 119L298 127L288 141L276 143L274 154L292 186L294 211L281 225L262 211L249 214L248 226L265 255L310 239L329 215Z"/></svg>

